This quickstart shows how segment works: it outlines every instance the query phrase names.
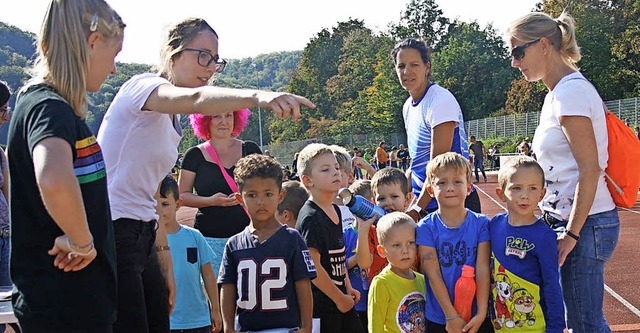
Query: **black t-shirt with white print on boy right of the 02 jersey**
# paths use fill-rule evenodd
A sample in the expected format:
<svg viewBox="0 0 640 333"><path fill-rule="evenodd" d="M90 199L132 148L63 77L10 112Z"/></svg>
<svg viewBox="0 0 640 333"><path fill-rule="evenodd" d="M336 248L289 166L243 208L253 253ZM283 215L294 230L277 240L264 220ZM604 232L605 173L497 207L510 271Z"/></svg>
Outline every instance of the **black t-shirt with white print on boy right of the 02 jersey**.
<svg viewBox="0 0 640 333"><path fill-rule="evenodd" d="M338 220L342 221L340 208L336 205L333 205L333 208L338 214ZM307 200L298 213L296 229L307 242L307 247L314 248L320 253L320 265L327 271L333 284L346 294L347 267L342 223L333 223L322 208L315 202ZM311 290L314 318L319 318L326 313L340 313L336 304L314 284L311 284Z"/></svg>

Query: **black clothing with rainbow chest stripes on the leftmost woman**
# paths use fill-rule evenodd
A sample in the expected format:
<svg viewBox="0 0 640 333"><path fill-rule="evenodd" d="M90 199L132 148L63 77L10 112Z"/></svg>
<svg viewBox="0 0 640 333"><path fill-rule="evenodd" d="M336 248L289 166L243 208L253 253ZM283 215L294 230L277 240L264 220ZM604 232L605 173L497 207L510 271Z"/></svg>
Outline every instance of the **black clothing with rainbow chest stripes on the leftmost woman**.
<svg viewBox="0 0 640 333"><path fill-rule="evenodd" d="M116 255L100 146L84 120L42 84L19 95L12 118L8 145L15 315L21 322L58 329L110 325L116 315ZM54 257L47 254L63 232L40 197L32 152L50 137L67 141L73 152L74 173L98 254L73 273L54 267Z"/></svg>

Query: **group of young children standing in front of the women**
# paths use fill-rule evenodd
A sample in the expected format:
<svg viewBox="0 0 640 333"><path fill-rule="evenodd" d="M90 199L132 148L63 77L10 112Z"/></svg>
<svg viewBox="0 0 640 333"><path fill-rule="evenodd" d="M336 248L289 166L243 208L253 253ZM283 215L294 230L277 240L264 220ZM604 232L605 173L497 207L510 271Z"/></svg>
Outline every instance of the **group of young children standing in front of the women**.
<svg viewBox="0 0 640 333"><path fill-rule="evenodd" d="M420 221L404 213L415 198L402 170L354 182L352 161L342 147L310 144L298 154L300 181L284 183L273 158L238 162L236 197L251 223L227 242L219 297L211 250L176 222L181 203L167 177L158 209L176 266L172 330L563 332L556 237L534 215L545 191L535 160L501 167L496 193L508 212L489 219L464 207L469 161L435 157L426 186L438 209ZM338 198L345 187L386 214L361 219ZM470 295L458 291L463 266L475 274Z"/></svg>

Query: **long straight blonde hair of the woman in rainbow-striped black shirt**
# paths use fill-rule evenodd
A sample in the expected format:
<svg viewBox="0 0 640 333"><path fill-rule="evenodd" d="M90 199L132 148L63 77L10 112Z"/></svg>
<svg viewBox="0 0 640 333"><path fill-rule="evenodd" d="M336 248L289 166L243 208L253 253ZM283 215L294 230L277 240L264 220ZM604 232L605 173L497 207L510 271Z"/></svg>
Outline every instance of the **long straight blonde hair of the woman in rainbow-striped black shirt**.
<svg viewBox="0 0 640 333"><path fill-rule="evenodd" d="M51 0L38 37L34 78L64 98L76 115L87 113L87 37L98 32L106 40L123 36L125 24L104 0Z"/></svg>

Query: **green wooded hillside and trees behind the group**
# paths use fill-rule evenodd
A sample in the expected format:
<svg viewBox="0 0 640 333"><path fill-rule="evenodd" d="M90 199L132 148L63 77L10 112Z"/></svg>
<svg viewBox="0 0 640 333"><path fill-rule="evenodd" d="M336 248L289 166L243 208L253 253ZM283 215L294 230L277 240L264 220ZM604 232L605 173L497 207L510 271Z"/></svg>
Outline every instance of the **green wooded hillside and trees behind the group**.
<svg viewBox="0 0 640 333"><path fill-rule="evenodd" d="M580 69L605 100L640 95L640 2L544 0L532 10L553 16L566 10L575 18ZM304 110L298 122L275 120L262 112L265 144L402 132L400 110L407 93L398 83L389 53L399 40L418 37L433 50L433 80L456 96L466 120L537 111L546 88L540 82L526 82L511 68L503 33L445 17L434 0L408 0L400 20L390 22L386 31L374 32L360 19L336 22L310 36L302 51L230 59L213 84L286 90L316 103L318 108ZM28 78L34 38L0 23L0 79L14 90ZM94 130L120 85L149 69L144 64L118 64L117 75L91 96L88 122ZM258 142L257 112L252 117L241 137ZM5 133L3 126L0 142ZM187 135L185 140L190 144L193 137Z"/></svg>

